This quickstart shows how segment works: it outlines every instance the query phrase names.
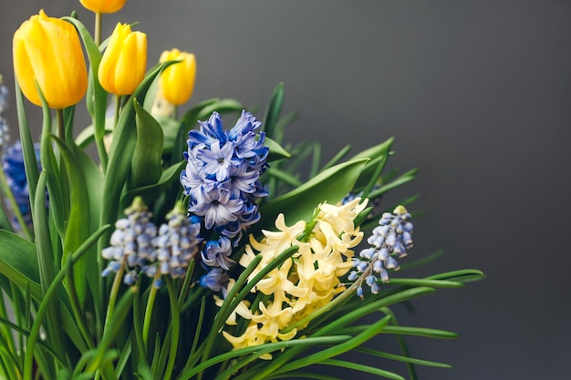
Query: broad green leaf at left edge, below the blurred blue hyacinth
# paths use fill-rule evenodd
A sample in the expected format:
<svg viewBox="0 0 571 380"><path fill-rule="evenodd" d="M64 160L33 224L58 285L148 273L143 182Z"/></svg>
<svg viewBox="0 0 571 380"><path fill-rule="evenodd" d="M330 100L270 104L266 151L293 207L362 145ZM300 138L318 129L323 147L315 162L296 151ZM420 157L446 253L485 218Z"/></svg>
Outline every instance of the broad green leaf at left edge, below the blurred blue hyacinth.
<svg viewBox="0 0 571 380"><path fill-rule="evenodd" d="M36 245L10 231L0 230L0 272L21 289L30 284L32 297L42 299Z"/></svg>

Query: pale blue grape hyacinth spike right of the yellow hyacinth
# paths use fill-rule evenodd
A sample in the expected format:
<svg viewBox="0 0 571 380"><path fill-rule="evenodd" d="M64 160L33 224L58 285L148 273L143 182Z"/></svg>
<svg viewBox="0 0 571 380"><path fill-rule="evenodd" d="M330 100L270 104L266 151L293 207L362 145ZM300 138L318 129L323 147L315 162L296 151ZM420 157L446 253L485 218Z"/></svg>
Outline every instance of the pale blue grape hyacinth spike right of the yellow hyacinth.
<svg viewBox="0 0 571 380"><path fill-rule="evenodd" d="M383 213L379 226L367 240L369 248L359 252L359 258L353 258L355 270L349 273L348 281L359 282L357 294L360 298L363 298L363 281L369 285L371 293L377 294L380 291L378 281L389 282L387 270L400 269L394 256L402 258L412 248L413 226L410 219L410 213L403 206L398 206L392 213Z"/></svg>

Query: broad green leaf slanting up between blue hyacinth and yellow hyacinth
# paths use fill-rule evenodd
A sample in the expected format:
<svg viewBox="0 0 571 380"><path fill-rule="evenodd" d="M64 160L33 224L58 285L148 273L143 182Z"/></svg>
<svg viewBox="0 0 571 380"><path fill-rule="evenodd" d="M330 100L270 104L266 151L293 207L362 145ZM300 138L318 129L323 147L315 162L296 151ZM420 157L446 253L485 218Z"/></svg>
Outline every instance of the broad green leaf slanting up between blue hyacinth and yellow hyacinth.
<svg viewBox="0 0 571 380"><path fill-rule="evenodd" d="M261 220L254 225L253 230L272 229L280 212L285 212L285 220L293 224L296 221L309 220L320 203L337 204L353 189L368 160L351 160L336 165L322 171L297 189L268 201L260 207Z"/></svg>

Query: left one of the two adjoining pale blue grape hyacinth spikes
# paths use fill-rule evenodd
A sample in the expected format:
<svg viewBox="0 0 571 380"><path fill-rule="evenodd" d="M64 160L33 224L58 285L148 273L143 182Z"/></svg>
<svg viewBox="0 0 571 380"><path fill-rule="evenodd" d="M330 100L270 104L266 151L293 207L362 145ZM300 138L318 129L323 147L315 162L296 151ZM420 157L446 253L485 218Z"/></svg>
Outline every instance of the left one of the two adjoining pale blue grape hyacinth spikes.
<svg viewBox="0 0 571 380"><path fill-rule="evenodd" d="M157 235L157 227L151 222L151 212L140 197L136 197L128 209L127 218L115 222L116 230L111 234L111 246L101 251L104 259L110 260L102 276L119 272L121 266L128 271L123 282L132 285L137 280L138 268L157 260L157 252L151 245Z"/></svg>

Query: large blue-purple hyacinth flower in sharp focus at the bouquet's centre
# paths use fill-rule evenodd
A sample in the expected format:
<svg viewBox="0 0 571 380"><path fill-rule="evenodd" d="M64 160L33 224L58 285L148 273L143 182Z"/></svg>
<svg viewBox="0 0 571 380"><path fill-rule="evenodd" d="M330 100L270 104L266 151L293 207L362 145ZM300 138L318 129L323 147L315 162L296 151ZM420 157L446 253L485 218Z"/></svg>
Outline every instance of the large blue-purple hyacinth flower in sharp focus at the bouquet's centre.
<svg viewBox="0 0 571 380"><path fill-rule="evenodd" d="M233 245L260 219L255 201L267 196L259 178L269 149L264 132L254 132L262 123L249 112L242 111L230 130L223 129L217 112L199 124L200 129L189 132L181 183L190 198L188 211L202 217L204 228L217 235L204 244L202 261L229 270Z"/></svg>

